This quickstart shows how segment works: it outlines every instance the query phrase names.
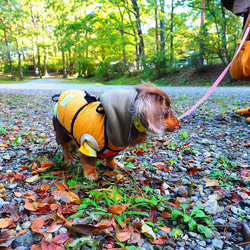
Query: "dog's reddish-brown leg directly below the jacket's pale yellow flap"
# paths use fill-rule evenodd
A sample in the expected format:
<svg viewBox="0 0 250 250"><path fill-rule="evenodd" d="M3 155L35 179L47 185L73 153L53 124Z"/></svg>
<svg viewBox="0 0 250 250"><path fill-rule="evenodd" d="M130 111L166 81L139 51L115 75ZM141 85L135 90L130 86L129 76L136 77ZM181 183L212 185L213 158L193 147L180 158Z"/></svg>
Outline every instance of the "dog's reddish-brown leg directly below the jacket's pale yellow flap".
<svg viewBox="0 0 250 250"><path fill-rule="evenodd" d="M81 163L83 167L84 176L87 179L97 180L98 174L96 172L96 161L95 157L89 157L83 154L80 154Z"/></svg>

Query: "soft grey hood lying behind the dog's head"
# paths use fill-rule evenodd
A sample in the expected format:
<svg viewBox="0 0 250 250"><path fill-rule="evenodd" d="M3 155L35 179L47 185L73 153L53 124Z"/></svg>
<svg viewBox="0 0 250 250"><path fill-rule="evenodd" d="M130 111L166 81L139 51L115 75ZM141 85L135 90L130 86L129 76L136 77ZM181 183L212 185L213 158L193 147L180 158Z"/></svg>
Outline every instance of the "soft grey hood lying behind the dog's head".
<svg viewBox="0 0 250 250"><path fill-rule="evenodd" d="M128 146L136 95L134 89L114 89L104 92L100 97L107 117L106 133L116 147Z"/></svg>

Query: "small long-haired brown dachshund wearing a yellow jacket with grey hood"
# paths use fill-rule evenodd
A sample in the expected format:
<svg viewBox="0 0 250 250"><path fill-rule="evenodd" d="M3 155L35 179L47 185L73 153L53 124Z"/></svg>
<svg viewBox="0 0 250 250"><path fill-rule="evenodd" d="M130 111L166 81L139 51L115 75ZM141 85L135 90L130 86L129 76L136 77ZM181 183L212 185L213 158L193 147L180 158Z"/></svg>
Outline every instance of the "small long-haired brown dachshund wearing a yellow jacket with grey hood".
<svg viewBox="0 0 250 250"><path fill-rule="evenodd" d="M180 128L166 93L153 84L104 92L96 99L85 91L67 90L55 106L53 124L64 162L72 164L70 144L75 140L84 176L97 180L96 161L106 159L112 169L123 165L114 157L128 146L147 140L150 134L165 134Z"/></svg>

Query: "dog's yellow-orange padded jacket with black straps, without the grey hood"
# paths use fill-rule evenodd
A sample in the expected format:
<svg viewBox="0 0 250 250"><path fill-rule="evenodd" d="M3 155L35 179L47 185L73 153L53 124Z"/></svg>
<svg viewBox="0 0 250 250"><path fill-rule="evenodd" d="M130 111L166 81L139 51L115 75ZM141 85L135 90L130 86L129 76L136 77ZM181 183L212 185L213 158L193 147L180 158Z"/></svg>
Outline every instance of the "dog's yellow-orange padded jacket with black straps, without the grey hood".
<svg viewBox="0 0 250 250"><path fill-rule="evenodd" d="M85 91L64 91L58 99L55 113L60 124L75 139L80 152L85 155L108 158L128 146L126 140L122 143L124 145L115 143L114 146L111 143L105 129L107 117L103 106Z"/></svg>

